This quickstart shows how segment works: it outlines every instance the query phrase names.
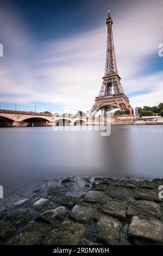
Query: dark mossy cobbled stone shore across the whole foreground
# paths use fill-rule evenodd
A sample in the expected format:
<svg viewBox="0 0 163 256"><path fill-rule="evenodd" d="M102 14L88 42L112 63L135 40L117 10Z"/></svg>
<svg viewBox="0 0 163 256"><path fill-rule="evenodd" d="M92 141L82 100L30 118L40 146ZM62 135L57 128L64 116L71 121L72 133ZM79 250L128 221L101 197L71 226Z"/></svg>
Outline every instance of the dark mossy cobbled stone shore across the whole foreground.
<svg viewBox="0 0 163 256"><path fill-rule="evenodd" d="M1 245L162 245L163 179L47 181L0 205Z"/></svg>

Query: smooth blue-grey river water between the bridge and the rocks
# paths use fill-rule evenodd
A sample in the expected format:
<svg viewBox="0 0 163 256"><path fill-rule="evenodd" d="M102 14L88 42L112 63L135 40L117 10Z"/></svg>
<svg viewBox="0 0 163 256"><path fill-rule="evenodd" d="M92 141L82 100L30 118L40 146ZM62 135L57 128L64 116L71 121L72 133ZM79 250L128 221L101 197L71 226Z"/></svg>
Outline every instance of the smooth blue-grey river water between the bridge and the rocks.
<svg viewBox="0 0 163 256"><path fill-rule="evenodd" d="M100 131L52 127L0 129L0 185L7 196L64 176L163 178L163 126L111 126Z"/></svg>

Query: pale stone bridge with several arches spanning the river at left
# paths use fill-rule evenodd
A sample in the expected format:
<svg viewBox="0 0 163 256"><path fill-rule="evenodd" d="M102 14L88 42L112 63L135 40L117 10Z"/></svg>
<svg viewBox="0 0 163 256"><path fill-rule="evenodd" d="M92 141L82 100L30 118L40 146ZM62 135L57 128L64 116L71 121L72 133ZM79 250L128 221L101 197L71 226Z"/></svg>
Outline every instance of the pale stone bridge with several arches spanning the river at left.
<svg viewBox="0 0 163 256"><path fill-rule="evenodd" d="M0 109L0 126L52 126L52 125L89 125L98 120L73 115L58 115Z"/></svg>

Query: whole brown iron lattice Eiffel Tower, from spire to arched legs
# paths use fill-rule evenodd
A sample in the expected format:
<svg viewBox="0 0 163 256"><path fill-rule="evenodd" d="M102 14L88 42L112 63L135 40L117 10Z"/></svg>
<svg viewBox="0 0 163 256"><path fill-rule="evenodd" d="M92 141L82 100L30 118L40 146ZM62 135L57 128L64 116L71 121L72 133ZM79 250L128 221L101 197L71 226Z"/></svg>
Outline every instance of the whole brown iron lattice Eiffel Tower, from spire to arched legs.
<svg viewBox="0 0 163 256"><path fill-rule="evenodd" d="M106 115L112 109L119 108L121 111L129 109L130 103L128 97L124 94L121 86L121 77L118 75L114 40L112 33L112 19L110 9L107 26L107 45L106 45L106 65L103 83L98 97L95 97L95 104L91 108L90 116L95 117L99 110Z"/></svg>

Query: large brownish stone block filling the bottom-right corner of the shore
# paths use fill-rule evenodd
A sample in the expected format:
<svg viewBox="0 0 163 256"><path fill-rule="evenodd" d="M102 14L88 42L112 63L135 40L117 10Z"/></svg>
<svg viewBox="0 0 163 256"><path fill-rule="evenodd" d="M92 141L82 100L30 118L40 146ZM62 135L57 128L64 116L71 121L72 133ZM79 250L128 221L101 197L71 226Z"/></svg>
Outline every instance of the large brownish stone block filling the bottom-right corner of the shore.
<svg viewBox="0 0 163 256"><path fill-rule="evenodd" d="M141 219L134 216L129 225L128 235L136 244L157 244L163 241L163 223L155 219Z"/></svg>

